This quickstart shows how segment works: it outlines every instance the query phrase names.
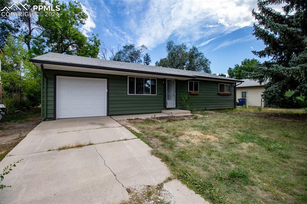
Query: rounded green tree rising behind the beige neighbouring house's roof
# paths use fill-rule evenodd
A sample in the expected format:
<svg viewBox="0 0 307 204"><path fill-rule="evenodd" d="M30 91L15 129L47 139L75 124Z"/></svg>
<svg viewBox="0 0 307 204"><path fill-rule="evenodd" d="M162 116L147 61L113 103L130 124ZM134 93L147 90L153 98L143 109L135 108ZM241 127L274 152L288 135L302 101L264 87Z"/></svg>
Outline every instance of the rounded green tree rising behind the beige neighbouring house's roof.
<svg viewBox="0 0 307 204"><path fill-rule="evenodd" d="M229 78L233 79L246 79L250 72L255 71L255 66L260 62L257 59L244 59L241 64L235 64L234 68L228 68Z"/></svg>

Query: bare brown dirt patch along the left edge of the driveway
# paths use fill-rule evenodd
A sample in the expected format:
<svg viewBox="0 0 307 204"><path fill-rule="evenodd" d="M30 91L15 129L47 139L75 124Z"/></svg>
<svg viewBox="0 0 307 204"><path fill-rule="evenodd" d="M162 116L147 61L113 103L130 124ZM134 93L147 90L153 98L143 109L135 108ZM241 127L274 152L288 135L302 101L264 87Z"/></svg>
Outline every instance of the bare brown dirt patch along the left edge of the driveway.
<svg viewBox="0 0 307 204"><path fill-rule="evenodd" d="M1 123L2 131L0 132L0 144L15 142L17 138L26 136L39 123L38 120L29 123Z"/></svg>

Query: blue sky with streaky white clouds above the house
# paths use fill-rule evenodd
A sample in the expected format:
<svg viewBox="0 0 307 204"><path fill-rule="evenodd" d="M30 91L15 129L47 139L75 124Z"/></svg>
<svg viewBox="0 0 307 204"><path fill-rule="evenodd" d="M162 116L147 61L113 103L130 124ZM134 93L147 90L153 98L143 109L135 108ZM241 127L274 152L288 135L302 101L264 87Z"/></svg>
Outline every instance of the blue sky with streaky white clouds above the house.
<svg viewBox="0 0 307 204"><path fill-rule="evenodd" d="M251 51L265 47L251 35L256 1L80 2L89 16L80 28L84 34L98 33L115 50L118 44L145 44L151 65L166 56L168 40L199 47L211 60L213 73L227 73L245 58L258 59Z"/></svg>

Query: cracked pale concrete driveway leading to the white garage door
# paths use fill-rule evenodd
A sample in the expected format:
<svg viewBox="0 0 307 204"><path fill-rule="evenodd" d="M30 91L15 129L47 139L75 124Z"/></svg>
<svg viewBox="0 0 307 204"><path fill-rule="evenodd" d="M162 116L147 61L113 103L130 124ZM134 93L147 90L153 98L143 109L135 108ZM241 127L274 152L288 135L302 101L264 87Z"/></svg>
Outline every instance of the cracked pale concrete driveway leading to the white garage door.
<svg viewBox="0 0 307 204"><path fill-rule="evenodd" d="M56 150L65 145L93 143ZM45 121L0 162L22 159L2 184L2 203L119 203L134 184L157 185L170 173L151 148L110 117Z"/></svg>

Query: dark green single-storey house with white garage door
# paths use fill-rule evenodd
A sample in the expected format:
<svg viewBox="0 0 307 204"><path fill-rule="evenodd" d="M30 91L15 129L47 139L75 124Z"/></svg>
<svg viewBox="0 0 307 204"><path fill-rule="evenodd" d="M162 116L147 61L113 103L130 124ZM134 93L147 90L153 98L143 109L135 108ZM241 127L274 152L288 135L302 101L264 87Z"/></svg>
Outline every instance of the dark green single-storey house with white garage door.
<svg viewBox="0 0 307 204"><path fill-rule="evenodd" d="M165 67L47 53L30 59L42 69L42 118L155 113L235 107L240 80Z"/></svg>

